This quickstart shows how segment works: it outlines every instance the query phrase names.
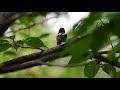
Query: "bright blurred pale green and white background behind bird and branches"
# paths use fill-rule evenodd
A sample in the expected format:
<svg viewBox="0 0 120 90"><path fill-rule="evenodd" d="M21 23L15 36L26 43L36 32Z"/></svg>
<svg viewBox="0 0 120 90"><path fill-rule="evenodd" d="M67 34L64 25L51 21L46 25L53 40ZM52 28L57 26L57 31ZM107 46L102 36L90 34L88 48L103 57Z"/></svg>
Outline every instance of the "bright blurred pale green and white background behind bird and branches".
<svg viewBox="0 0 120 90"><path fill-rule="evenodd" d="M46 34L46 37L41 38L44 44L48 48L56 46L56 36L60 27L64 27L68 38L73 36L73 26L83 18L87 17L89 12L59 12L50 13L44 15L37 15L23 17L16 20L15 23L6 31L6 36L15 35L15 40L22 40L27 37L39 37L42 34ZM26 19L27 18L27 19ZM31 21L30 21L31 20ZM29 25L36 23L30 28L26 28ZM26 28L26 29L24 29ZM24 49L19 48L16 52L15 49L10 48L7 51L0 53L0 63L27 55L30 53L38 52L36 49ZM53 61L55 64L66 64L71 57L60 58ZM16 72L0 75L0 78L86 78L84 76L83 67L50 67L50 66L37 66ZM96 75L97 78L109 77L105 72L99 70Z"/></svg>

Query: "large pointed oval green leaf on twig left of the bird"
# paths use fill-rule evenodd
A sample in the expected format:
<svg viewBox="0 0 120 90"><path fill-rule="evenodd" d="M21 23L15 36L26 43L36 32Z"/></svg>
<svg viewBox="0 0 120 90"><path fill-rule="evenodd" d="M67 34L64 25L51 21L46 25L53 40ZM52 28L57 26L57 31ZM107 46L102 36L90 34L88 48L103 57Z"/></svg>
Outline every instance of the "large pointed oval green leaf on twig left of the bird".
<svg viewBox="0 0 120 90"><path fill-rule="evenodd" d="M25 40L25 43L34 48L45 47L43 42L39 38L36 38L36 37L27 38Z"/></svg>

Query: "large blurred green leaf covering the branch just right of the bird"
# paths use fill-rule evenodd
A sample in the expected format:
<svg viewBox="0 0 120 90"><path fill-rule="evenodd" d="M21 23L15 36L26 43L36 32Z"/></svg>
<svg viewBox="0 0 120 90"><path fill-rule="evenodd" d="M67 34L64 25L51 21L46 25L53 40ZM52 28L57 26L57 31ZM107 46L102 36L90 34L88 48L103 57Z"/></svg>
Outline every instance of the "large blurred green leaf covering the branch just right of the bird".
<svg viewBox="0 0 120 90"><path fill-rule="evenodd" d="M69 63L81 62L80 58L83 58L82 55L88 52L90 44L91 36L88 36L67 47L67 51L72 55Z"/></svg>

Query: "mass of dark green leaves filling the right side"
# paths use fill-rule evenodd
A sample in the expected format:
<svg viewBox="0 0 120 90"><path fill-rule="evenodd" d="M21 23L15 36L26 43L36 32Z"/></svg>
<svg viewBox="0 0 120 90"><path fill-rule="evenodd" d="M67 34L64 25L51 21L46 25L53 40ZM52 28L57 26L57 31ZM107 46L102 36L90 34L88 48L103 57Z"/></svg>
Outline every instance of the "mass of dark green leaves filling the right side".
<svg viewBox="0 0 120 90"><path fill-rule="evenodd" d="M81 21L81 24L78 24L77 29L76 27L74 27L75 30L74 28L73 30L74 32L76 32L76 34L74 35L74 38L79 35L87 34L88 32L90 32L91 34L89 35L89 38L86 36L80 39L79 41L77 41L77 43L79 44L73 43L70 45L69 47L70 49L68 48L69 52L72 55L72 59L70 60L70 62L80 63L81 55L84 55L89 50L91 50L93 52L93 55L95 55L104 47L109 46L110 37L112 37L113 35L117 35L119 37L120 36L119 35L120 27L118 24L120 20L119 14L120 13L98 13L98 12L93 13L92 12L87 18L84 18L84 20ZM109 23L103 22L102 18L108 20ZM102 24L100 26L96 25L96 27L94 27L94 24L95 24L94 22L97 23L98 20L100 21L99 23L102 23ZM90 30L90 27L92 27L91 30ZM88 41L90 43L87 43ZM88 47L86 48L86 46ZM107 58L109 58L109 60L112 60L113 62L117 62L119 60L119 56L116 56L115 54L116 52L119 52L119 49L120 48L119 48L119 42L118 42L114 48L110 49L110 52L107 54ZM82 59L84 60L84 58ZM84 60L84 62L85 61L86 59ZM112 65L109 65L109 64L102 65L101 63L96 64L96 62L94 61L89 62L85 65L85 69L84 69L85 76L94 77L100 68L99 65L101 65L104 72L108 73L111 77L115 77L116 69Z"/></svg>

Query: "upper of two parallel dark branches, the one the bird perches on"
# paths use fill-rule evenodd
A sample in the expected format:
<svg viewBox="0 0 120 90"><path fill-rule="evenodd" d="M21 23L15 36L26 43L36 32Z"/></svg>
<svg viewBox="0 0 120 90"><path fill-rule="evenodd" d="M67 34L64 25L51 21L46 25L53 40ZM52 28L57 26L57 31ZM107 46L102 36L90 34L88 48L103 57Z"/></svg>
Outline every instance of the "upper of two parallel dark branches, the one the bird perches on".
<svg viewBox="0 0 120 90"><path fill-rule="evenodd" d="M61 45L61 46L56 46L54 48L45 50L43 52L37 52L37 53L22 56L22 57L18 57L0 64L0 68L25 63L28 61L35 60L37 58L46 57L46 55L62 51L63 48L64 48L63 45Z"/></svg>

